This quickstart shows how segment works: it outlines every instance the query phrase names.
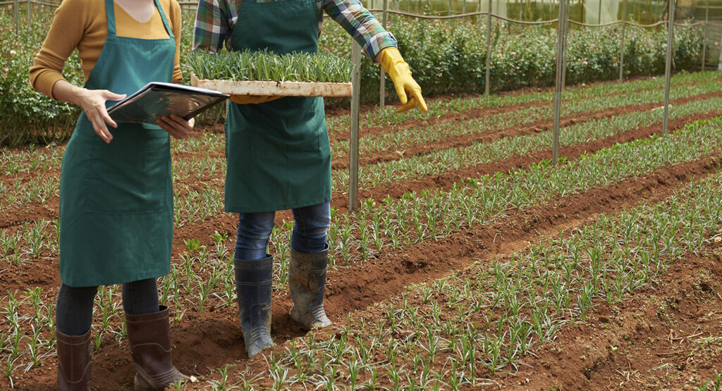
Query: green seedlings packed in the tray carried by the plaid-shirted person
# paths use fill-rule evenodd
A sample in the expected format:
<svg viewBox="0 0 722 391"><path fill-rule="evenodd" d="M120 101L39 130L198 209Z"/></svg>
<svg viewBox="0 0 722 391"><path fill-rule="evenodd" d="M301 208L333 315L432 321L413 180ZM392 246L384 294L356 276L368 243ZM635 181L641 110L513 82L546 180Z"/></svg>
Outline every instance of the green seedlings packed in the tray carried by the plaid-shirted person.
<svg viewBox="0 0 722 391"><path fill-rule="evenodd" d="M259 50L209 53L193 50L185 58L186 69L199 79L267 82L350 82L349 58L329 52L275 53Z"/></svg>

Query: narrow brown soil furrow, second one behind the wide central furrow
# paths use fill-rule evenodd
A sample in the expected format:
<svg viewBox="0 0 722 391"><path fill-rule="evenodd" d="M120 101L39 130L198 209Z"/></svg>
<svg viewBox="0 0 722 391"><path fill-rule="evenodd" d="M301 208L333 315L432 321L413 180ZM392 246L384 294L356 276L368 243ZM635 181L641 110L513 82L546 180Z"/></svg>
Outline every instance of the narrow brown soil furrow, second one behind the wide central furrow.
<svg viewBox="0 0 722 391"><path fill-rule="evenodd" d="M709 92L707 94L702 95L695 95L692 97L683 97L679 98L677 100L671 100L671 105L684 105L688 102L694 102L696 100L705 100L710 99L713 97L722 97L722 91L717 92ZM634 113L634 112L641 112L641 111L649 111L655 108L660 107L660 102L653 102L653 103L645 103L642 105L633 105L633 106L624 106L624 107L613 107L611 109L604 109L599 110L596 112L591 113L576 113L575 115L570 115L565 118L560 118L560 127L565 126L571 126L578 123L587 123L592 120L599 120L603 118L610 118L614 115L620 115L620 114L627 114L627 113ZM464 113L463 115L468 115L467 113ZM469 118L453 118L448 119L446 122L461 122L464 120L468 120L470 118L476 118L475 115L470 115ZM460 124L461 126L461 124ZM503 139L505 137L516 137L516 136L524 136L534 133L541 133L544 131L549 131L552 128L554 128L554 120L542 120L537 121L534 123L531 123L529 125L521 126L518 128L507 128L502 131L498 132L484 132L484 133L477 133L477 134L466 134L463 136L453 136L448 139L443 139L440 141L431 142L428 144L418 144L418 145L410 145L410 146L404 146L403 151L398 151L396 149L393 150L387 150L387 151L375 151L369 154L364 154L363 156L359 157L359 164L361 166L370 165L370 164L377 164L382 162L391 162L393 160L399 160L399 159L407 159L409 157L417 156L420 154L427 154L430 151L436 151L440 149L450 149L450 148L458 148L461 146L469 146L474 143L480 143L480 142L490 142L495 141L499 139ZM419 132L422 132L423 129L419 129ZM331 162L331 168L334 170L344 170L349 167L348 157L339 157L337 159L333 159Z"/></svg>

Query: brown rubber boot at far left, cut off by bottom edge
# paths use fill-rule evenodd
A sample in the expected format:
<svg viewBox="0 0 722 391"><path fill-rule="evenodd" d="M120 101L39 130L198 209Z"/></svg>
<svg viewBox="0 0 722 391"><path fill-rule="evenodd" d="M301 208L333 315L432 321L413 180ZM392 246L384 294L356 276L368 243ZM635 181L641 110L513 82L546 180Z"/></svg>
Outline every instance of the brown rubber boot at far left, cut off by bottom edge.
<svg viewBox="0 0 722 391"><path fill-rule="evenodd" d="M65 335L56 330L58 342L58 386L61 391L90 390L90 330L83 335Z"/></svg>

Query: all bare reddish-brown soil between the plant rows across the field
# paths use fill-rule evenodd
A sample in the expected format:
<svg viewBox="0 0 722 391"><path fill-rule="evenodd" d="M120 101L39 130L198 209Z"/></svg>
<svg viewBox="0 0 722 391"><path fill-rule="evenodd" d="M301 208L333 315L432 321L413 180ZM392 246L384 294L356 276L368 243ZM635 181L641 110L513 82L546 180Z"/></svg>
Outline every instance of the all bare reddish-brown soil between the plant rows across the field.
<svg viewBox="0 0 722 391"><path fill-rule="evenodd" d="M708 95L722 96L722 93ZM685 99L700 100L705 97L708 96ZM683 100L679 101L677 104ZM605 118L630 111L651 110L657 106L658 104L648 104L601 110L583 117L565 118L562 123L589 120L595 118L595 115ZM518 110L521 107L523 105L516 109L502 110ZM373 109L367 107L364 110ZM451 115L438 120L473 118L482 111ZM330 113L344 115L342 109L330 110ZM669 130L681 128L692 120L713 118L721 114L722 111L679 118L670 121ZM405 126L420 125L422 124ZM217 127L215 126L216 131ZM448 139L436 144L414 146L417 149L409 149L411 152L407 151L404 156L526 134L524 132L534 133L546 128L549 128L549 123L534 123L522 129ZM619 142L644 139L659 132L661 126L658 125L638 128L606 139L563 148L560 156L572 161L583 154L591 154ZM213 156L222 158L222 151L213 153ZM388 157L384 153L367 157L365 162L385 161L383 159ZM509 211L505 216L488 224L463 229L432 242L405 246L400 250L386 249L374 258L355 263L352 267L333 268L328 273L326 312L335 325L344 325L349 312L363 311L375 303L399 296L404 287L410 284L448 276L452 271L462 270L472 263L481 263L483 266L492 257L504 259L525 248L530 241L539 237L552 237L564 229L588 224L600 214L618 213L641 202L660 201L687 185L692 177L705 177L719 170L722 166L719 155L716 152L695 162L663 167L648 175L628 178L621 183L553 198L543 205ZM400 198L409 191L448 188L466 177L528 167L549 157L551 151L540 151L493 164L479 164L464 170L449 171L443 175L364 189L360 193L360 199L373 198L380 201L387 196ZM46 175L48 173L59 175L59 172L45 172ZM19 173L8 180L14 182L19 178L34 175L38 173ZM8 180L5 183L10 183ZM339 208L339 213L345 213L346 195L334 194L332 205ZM0 227L17 227L25 221L57 217L58 200L51 198L45 204L28 203L18 208L4 208L0 211ZM290 213L279 212L277 221L283 219L290 220ZM227 245L231 247L236 224L237 216L220 213L201 223L178 227L175 229L173 254L183 252L183 240L197 239L201 244L213 245L209 236L215 231L228 234L230 239ZM628 302L616 306L596 303L586 322L565 326L557 341L536 351L535 355L525 357L526 365L521 366L519 372L503 374L497 381L502 387L520 390L549 390L552 387L557 390L659 390L679 389L694 383L690 381L690 377L697 381L712 379L713 369L722 368L719 345L716 350L700 349L695 341L719 334L722 320L722 284L718 282L722 281L721 254L722 248L719 244L712 243L703 254L688 255L687 258L673 263L669 271L654 285L638 291ZM42 260L32 264L9 264L2 265L1 268L0 285L4 290L22 291L28 287L40 286L45 291L53 291L60 284L58 260L51 254L44 254ZM51 298L45 300L52 302ZM274 292L271 333L278 346L272 351L284 351L284 342L305 335L303 330L295 327L288 319L290 305L287 292ZM213 370L225 364L235 364L236 369L251 374L264 373L267 364L263 358L249 360L246 356L237 316L235 309L222 306L216 308L210 305L204 313L188 307L181 322L171 322L175 365L183 372L205 379L217 378L218 375L213 373ZM614 351L611 346L614 346ZM267 354L269 353L264 353L266 356ZM21 390L56 390L56 372L56 357L50 356L43 360L43 365L35 369L15 372L13 385ZM113 335L105 335L100 350L93 357L93 389L129 390L132 388L134 373L127 341L118 343ZM9 380L2 377L0 388L9 387ZM192 388L193 386L189 387Z"/></svg>

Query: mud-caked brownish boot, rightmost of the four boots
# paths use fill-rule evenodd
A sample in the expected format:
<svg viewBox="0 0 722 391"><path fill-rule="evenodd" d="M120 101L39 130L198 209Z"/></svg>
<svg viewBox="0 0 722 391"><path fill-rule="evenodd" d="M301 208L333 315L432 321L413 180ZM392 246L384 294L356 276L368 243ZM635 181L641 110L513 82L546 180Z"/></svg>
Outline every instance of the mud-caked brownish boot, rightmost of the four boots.
<svg viewBox="0 0 722 391"><path fill-rule="evenodd" d="M288 287L291 291L291 319L301 328L323 328L331 325L323 310L323 291L326 288L326 267L329 247L319 252L297 252L291 249L288 266Z"/></svg>

